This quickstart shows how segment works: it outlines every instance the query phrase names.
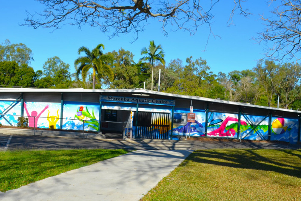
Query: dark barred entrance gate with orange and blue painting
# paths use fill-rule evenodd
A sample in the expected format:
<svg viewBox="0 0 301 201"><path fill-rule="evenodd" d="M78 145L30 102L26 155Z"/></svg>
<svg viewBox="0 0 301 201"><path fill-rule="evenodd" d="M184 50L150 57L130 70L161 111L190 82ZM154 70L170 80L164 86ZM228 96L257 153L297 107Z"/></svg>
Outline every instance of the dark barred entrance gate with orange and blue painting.
<svg viewBox="0 0 301 201"><path fill-rule="evenodd" d="M134 113L133 125L136 122ZM137 136L135 138L168 139L170 114L138 111Z"/></svg>

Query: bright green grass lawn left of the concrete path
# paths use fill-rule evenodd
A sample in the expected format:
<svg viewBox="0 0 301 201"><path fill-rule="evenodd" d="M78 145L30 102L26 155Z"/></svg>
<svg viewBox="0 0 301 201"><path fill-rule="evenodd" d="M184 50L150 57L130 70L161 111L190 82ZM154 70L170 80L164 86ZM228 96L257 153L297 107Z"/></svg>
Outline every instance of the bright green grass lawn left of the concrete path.
<svg viewBox="0 0 301 201"><path fill-rule="evenodd" d="M127 152L123 149L0 152L0 191L19 188Z"/></svg>

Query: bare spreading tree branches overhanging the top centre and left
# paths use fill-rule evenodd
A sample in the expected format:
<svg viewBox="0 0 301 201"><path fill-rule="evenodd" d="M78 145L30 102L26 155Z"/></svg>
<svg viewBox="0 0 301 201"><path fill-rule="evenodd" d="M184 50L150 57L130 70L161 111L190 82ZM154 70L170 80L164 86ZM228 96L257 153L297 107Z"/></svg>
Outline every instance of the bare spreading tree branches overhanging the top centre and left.
<svg viewBox="0 0 301 201"><path fill-rule="evenodd" d="M34 28L52 27L59 29L64 24L81 28L88 24L99 27L101 32L110 32L110 37L120 33L137 33L144 30L149 18L158 18L164 34L166 27L172 25L172 31L184 30L194 34L200 25L208 24L213 18L214 5L220 0L201 2L200 0L37 0L45 5L42 13L27 12L25 24ZM244 0L234 0L234 11L248 13L242 8ZM210 30L211 33L211 30ZM136 35L137 36L137 35Z"/></svg>

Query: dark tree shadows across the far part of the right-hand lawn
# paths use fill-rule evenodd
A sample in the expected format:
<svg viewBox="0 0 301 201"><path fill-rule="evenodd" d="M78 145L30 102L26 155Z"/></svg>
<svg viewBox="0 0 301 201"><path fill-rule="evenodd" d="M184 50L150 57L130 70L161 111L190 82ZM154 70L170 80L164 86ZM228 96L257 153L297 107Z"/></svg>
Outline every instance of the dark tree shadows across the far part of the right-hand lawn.
<svg viewBox="0 0 301 201"><path fill-rule="evenodd" d="M300 159L301 150L197 150L189 155L181 166L193 161L232 168L273 171L301 178Z"/></svg>

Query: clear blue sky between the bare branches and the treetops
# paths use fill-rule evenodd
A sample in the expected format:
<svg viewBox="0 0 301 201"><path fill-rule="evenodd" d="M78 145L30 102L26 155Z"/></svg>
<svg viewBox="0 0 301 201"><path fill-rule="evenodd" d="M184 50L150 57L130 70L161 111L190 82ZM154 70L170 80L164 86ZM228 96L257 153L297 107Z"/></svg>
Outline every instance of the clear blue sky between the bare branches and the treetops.
<svg viewBox="0 0 301 201"><path fill-rule="evenodd" d="M165 60L169 63L172 59L179 58L183 61L192 56L194 59L202 58L207 61L210 70L218 74L220 71L228 73L234 70L252 69L257 60L264 57L263 46L259 45L252 37L257 37L264 26L259 14L268 14L271 8L263 0L249 0L244 3L253 15L248 18L236 13L233 24L227 22L233 8L233 1L221 1L214 8L215 18L212 23L212 31L221 37L209 37L209 28L204 25L198 32L190 36L188 32L178 30L169 32L166 37L160 29L157 20L148 20L150 23L143 33L139 33L138 40L131 43L135 33L128 33L108 38L108 33L102 33L96 27L84 26L81 30L76 26L65 25L59 30L52 31L47 28L33 29L20 26L26 18L26 10L30 13L42 11L43 6L34 0L0 0L0 43L9 39L11 43L24 43L33 52L34 61L31 62L35 70L42 70L43 64L48 58L58 56L65 63L70 64L73 73L73 62L78 57L77 50L80 46L89 49L102 43L104 52L118 51L120 48L129 50L134 56L135 62L141 58L143 47L149 45L150 40L155 44L161 44L165 52Z"/></svg>

